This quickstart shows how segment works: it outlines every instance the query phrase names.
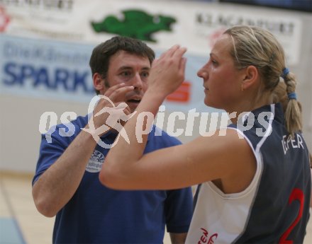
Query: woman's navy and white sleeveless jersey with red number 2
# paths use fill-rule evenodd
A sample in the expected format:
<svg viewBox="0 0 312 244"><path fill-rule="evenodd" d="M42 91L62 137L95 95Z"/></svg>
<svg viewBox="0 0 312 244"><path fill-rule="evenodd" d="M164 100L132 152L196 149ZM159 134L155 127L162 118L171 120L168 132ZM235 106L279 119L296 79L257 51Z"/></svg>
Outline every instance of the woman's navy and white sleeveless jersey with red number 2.
<svg viewBox="0 0 312 244"><path fill-rule="evenodd" d="M262 112L267 116L259 123ZM301 134L287 139L281 105L264 106L252 115L255 123L248 131L230 125L255 154L252 182L235 194L224 194L213 182L201 184L187 244L303 242L311 192L306 144Z"/></svg>

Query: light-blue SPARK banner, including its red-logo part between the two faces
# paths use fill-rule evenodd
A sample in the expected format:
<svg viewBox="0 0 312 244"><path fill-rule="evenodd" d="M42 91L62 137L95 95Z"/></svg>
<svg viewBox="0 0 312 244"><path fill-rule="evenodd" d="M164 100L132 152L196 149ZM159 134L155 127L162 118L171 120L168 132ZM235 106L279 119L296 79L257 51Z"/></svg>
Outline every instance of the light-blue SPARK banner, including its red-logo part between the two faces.
<svg viewBox="0 0 312 244"><path fill-rule="evenodd" d="M0 93L89 103L95 95L89 58L94 45L1 35ZM160 53L157 53L159 55ZM186 80L164 105L172 110L205 108L196 67L206 58L186 55Z"/></svg>

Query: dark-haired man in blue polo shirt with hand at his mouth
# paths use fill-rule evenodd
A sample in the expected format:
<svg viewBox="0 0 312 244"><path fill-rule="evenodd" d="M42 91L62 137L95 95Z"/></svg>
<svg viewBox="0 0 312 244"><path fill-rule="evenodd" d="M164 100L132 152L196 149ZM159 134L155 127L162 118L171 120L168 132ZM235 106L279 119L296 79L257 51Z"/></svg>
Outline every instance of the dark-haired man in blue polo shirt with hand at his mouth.
<svg viewBox="0 0 312 244"><path fill-rule="evenodd" d="M190 188L116 191L99 182L109 150L101 145L112 145L118 135L116 127L105 124L109 112L103 111L122 103L128 105L124 115L135 111L154 58L150 47L128 37L113 37L95 47L89 64L96 93L105 97L90 120L87 115L71 126L57 125L51 143L43 135L33 199L41 214L56 215L53 243L162 243L165 225L172 243L184 243L192 214ZM96 141L96 136L101 137ZM145 153L177 144L165 132L155 136L154 127Z"/></svg>

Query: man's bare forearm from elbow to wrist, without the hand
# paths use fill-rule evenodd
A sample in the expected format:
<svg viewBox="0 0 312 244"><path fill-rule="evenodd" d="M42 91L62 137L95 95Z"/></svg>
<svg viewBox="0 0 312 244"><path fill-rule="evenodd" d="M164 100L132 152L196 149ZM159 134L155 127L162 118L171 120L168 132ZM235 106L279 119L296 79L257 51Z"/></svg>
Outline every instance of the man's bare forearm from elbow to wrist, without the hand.
<svg viewBox="0 0 312 244"><path fill-rule="evenodd" d="M91 134L80 132L62 156L40 175L33 185L33 200L41 214L55 216L72 198L95 146Z"/></svg>

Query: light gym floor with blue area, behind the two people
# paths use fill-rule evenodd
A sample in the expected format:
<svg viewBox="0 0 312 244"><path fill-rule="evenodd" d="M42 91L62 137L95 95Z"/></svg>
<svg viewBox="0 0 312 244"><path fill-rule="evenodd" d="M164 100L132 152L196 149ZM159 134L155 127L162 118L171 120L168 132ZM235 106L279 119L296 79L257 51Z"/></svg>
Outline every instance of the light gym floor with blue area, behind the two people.
<svg viewBox="0 0 312 244"><path fill-rule="evenodd" d="M35 209L31 180L32 175L0 172L0 244L52 242L54 218L46 218ZM303 244L312 243L311 220L306 231ZM164 244L169 243L170 239L166 234Z"/></svg>

